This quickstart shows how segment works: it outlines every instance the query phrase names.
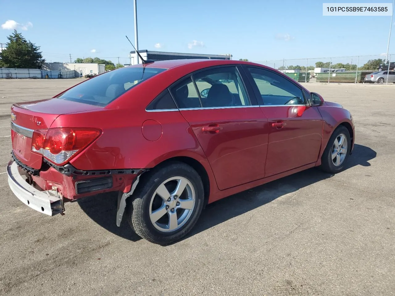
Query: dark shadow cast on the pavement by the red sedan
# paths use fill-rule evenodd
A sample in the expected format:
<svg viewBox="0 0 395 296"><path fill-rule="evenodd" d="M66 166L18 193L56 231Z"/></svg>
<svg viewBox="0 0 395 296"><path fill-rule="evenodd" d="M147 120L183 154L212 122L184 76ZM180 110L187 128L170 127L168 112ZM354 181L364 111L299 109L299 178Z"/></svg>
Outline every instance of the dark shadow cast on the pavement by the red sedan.
<svg viewBox="0 0 395 296"><path fill-rule="evenodd" d="M369 147L355 144L350 155L346 169L357 165L370 166L369 160L376 157L376 152ZM316 168L308 169L296 174L269 182L267 184L231 195L224 199L208 204L192 231L183 239L209 229L233 217L244 214L277 199L287 193L330 178L333 174L322 172ZM94 199L94 200L93 200ZM243 200L243 206L240 206ZM106 193L78 201L81 209L104 229L126 238L137 241L141 239L128 225L125 216L120 227L115 224L117 213L117 193Z"/></svg>

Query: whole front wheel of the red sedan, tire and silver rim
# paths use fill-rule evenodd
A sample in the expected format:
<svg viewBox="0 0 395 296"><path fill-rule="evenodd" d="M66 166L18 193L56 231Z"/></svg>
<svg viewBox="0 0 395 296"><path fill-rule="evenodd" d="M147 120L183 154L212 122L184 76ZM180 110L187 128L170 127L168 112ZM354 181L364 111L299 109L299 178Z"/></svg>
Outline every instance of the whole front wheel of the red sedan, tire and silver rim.
<svg viewBox="0 0 395 296"><path fill-rule="evenodd" d="M320 169L331 174L344 170L352 146L350 132L345 126L333 131L321 157Z"/></svg>

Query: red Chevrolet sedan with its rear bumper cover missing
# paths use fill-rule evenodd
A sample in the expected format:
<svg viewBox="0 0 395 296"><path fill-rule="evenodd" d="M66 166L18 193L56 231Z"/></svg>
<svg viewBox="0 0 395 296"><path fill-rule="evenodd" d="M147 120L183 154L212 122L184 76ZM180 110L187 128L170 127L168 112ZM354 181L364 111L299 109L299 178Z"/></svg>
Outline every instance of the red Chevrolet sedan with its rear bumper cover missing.
<svg viewBox="0 0 395 296"><path fill-rule="evenodd" d="M14 104L11 120L8 182L22 202L64 214L118 191L117 225L126 216L158 244L185 236L207 203L311 167L340 172L354 147L341 105L232 60L117 69Z"/></svg>

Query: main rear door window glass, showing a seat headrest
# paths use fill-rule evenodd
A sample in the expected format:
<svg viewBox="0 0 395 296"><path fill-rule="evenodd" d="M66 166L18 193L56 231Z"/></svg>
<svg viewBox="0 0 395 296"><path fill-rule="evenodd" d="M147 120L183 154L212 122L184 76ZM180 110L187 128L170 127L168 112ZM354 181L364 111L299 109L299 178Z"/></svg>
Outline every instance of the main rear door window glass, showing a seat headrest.
<svg viewBox="0 0 395 296"><path fill-rule="evenodd" d="M237 67L220 67L192 75L203 107L251 105Z"/></svg>

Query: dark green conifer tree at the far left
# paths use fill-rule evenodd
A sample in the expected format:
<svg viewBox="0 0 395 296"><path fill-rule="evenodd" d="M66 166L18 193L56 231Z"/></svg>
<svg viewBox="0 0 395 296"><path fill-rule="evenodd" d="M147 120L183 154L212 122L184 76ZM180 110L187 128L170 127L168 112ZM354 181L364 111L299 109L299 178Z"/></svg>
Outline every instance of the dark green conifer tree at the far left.
<svg viewBox="0 0 395 296"><path fill-rule="evenodd" d="M0 52L3 66L9 68L40 69L45 60L40 47L27 41L22 34L14 30L14 34L7 37L6 49Z"/></svg>

